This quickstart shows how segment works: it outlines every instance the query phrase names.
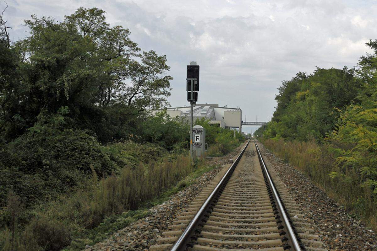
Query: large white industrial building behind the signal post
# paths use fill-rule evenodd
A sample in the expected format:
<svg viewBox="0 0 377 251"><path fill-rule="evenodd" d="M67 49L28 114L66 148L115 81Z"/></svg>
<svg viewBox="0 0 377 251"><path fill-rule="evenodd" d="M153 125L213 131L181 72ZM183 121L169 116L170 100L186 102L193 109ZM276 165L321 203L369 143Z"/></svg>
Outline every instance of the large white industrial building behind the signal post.
<svg viewBox="0 0 377 251"><path fill-rule="evenodd" d="M166 109L171 117L180 116L190 119L190 106L171 107ZM193 120L201 118L210 119L210 123L222 128L238 128L241 132L242 110L241 108L221 107L218 104L196 104L193 108Z"/></svg>

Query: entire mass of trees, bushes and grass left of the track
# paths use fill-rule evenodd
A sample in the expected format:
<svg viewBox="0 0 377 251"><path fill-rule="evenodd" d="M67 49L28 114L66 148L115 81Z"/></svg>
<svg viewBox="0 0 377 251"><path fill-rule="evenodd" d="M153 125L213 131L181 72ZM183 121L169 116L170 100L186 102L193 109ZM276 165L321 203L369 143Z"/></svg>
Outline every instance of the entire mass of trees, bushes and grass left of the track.
<svg viewBox="0 0 377 251"><path fill-rule="evenodd" d="M189 124L168 105L166 56L141 52L105 12L32 15L9 40L0 16L0 249L81 250L213 167L190 163ZM205 119L214 155L242 136Z"/></svg>

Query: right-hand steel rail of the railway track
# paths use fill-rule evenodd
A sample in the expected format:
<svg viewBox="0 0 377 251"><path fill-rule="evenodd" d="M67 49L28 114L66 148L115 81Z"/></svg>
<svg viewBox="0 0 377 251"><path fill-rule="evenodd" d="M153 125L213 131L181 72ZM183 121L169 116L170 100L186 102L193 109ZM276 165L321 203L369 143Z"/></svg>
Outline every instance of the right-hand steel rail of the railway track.
<svg viewBox="0 0 377 251"><path fill-rule="evenodd" d="M265 174L267 176L267 181L268 181L268 183L269 183L269 185L271 187L271 190L273 192L273 196L274 196L275 202L277 204L277 207L279 209L280 216L283 218L284 227L288 231L289 240L290 240L291 244L293 245L291 248L293 248L294 251L301 251L300 243L297 240L296 234L294 233L293 228L292 228L292 226L291 226L291 224L289 222L288 216L285 213L283 204L280 201L279 195L278 195L278 193L277 193L277 191L275 189L273 181L271 180L270 173L267 170L267 167L266 167L266 165L264 163L264 160L262 158L262 154L259 151L259 148L258 148L257 143L256 143L255 140L254 140L254 143L255 143L255 147L257 149L258 158L260 160L259 162L261 163L262 169L264 170L264 172L265 172Z"/></svg>

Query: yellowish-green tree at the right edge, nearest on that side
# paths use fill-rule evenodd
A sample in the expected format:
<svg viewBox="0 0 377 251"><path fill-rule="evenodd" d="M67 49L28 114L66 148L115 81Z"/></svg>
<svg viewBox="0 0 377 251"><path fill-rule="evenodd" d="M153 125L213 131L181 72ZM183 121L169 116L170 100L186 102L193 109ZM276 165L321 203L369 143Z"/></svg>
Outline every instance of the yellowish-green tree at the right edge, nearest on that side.
<svg viewBox="0 0 377 251"><path fill-rule="evenodd" d="M373 54L362 56L358 77L363 85L353 102L342 112L338 128L329 135L344 173L352 169L377 193L377 40L366 43ZM333 173L339 175L339 173Z"/></svg>

